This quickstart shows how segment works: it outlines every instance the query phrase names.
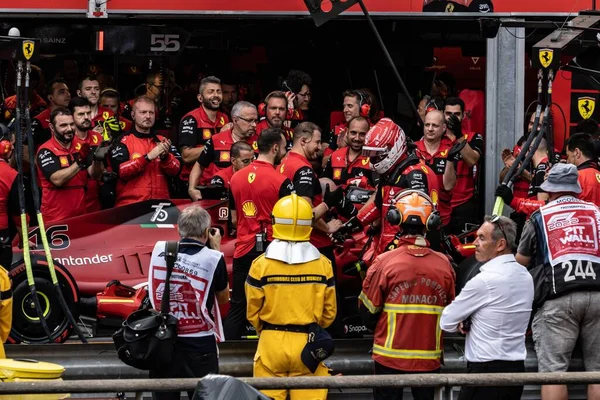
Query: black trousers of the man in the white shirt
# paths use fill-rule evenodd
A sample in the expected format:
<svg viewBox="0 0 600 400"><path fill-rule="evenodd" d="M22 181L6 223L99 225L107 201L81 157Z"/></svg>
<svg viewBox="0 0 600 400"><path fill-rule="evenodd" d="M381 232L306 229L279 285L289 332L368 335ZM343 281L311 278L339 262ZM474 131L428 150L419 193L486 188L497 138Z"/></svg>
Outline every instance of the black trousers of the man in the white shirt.
<svg viewBox="0 0 600 400"><path fill-rule="evenodd" d="M467 364L467 372L470 374L525 372L525 361L469 362ZM519 400L522 395L522 385L488 387L463 386L460 389L458 400Z"/></svg>

